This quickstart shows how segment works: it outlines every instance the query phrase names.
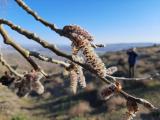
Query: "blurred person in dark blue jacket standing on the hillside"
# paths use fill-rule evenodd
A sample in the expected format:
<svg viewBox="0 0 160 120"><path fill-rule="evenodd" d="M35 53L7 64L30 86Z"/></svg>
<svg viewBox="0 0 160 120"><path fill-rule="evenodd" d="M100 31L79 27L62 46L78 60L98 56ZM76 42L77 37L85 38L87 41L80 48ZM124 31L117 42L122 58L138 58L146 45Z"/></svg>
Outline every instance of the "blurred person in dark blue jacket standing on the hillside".
<svg viewBox="0 0 160 120"><path fill-rule="evenodd" d="M135 64L136 64L136 59L138 57L138 54L136 52L136 48L131 48L127 51L128 55L128 64L129 64L129 77L133 78L134 77L134 69L135 69Z"/></svg>

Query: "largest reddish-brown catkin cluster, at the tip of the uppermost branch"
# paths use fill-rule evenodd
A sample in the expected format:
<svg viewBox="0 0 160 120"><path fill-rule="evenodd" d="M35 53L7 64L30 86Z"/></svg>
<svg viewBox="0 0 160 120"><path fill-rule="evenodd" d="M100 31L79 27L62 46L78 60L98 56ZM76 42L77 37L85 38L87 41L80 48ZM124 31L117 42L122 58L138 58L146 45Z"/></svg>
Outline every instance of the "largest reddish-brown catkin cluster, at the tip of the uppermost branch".
<svg viewBox="0 0 160 120"><path fill-rule="evenodd" d="M76 25L68 25L63 28L63 33L72 41L72 55L81 51L85 63L90 65L99 76L106 76L106 67L99 56L95 53L91 41L93 37L84 29Z"/></svg>

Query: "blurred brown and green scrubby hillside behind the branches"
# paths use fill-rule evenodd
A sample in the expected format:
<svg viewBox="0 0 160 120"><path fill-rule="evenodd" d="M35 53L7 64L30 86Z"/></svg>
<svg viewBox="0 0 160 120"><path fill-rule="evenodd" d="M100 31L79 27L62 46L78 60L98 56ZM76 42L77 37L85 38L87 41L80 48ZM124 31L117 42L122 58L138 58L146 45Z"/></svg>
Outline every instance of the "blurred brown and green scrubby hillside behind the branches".
<svg viewBox="0 0 160 120"><path fill-rule="evenodd" d="M136 67L136 77L160 73L160 47L139 48L140 57ZM4 53L11 65L18 64L18 71L30 70L28 63L18 53ZM12 58L12 59L11 59ZM106 53L102 56L106 66L116 65L119 71L115 76L127 77L127 55L125 51ZM98 97L98 90L105 84L94 75L85 72L87 88L79 89L72 96L69 92L69 78L63 69L50 63L38 63L48 73L55 73L52 79L43 81L45 93L32 97L18 98L13 90L0 85L0 120L122 120L126 113L126 101L115 95L107 102ZM0 66L0 73L5 68ZM23 70L23 71L21 71ZM137 97L145 98L160 108L160 78L145 81L124 81L123 88ZM159 112L150 112L140 107L136 120L159 120Z"/></svg>

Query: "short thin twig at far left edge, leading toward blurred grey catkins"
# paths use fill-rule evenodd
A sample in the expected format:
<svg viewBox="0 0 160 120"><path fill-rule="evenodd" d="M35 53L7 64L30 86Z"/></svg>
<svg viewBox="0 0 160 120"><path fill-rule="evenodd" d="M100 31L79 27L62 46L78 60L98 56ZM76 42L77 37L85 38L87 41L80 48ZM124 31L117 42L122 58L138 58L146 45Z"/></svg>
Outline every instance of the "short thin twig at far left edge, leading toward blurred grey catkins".
<svg viewBox="0 0 160 120"><path fill-rule="evenodd" d="M15 76L22 78L23 75L19 74L16 70L14 70L7 62L6 60L3 58L2 53L0 53L0 62L2 63L3 66L5 66L6 68L8 68L8 70L13 73Z"/></svg>

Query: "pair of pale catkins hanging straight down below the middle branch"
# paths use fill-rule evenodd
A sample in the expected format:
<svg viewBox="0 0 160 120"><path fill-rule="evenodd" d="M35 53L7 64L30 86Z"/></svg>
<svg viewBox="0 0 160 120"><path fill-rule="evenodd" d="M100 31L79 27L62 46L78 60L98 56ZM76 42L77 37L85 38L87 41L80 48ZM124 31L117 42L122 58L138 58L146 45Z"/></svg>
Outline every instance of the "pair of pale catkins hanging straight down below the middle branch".
<svg viewBox="0 0 160 120"><path fill-rule="evenodd" d="M70 88L73 94L77 93L78 82L82 88L86 87L86 81L82 67L72 63L67 69L70 72Z"/></svg>

